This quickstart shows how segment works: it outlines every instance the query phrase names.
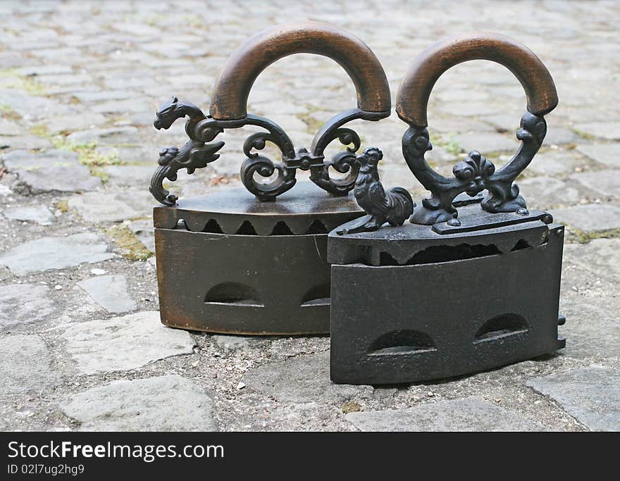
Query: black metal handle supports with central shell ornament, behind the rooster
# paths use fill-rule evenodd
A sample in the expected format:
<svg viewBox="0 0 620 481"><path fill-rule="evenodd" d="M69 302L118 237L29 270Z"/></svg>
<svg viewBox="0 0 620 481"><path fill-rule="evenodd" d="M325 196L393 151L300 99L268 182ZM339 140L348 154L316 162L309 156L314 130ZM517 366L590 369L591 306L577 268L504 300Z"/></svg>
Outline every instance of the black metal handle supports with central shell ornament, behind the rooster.
<svg viewBox="0 0 620 481"><path fill-rule="evenodd" d="M432 194L423 199L422 207L411 216L415 224L432 225L447 222L460 225L458 212L452 201L461 192L476 196L483 190L488 195L482 201L482 208L491 213L528 213L526 201L519 195L519 187L514 180L532 161L543 144L547 132L542 115L526 112L521 118L521 128L516 132L521 140L519 151L499 170L478 151L470 151L469 156L454 165L454 177L444 177L428 165L424 155L433 148L428 130L411 126L402 137L402 151L407 165L421 184Z"/></svg>

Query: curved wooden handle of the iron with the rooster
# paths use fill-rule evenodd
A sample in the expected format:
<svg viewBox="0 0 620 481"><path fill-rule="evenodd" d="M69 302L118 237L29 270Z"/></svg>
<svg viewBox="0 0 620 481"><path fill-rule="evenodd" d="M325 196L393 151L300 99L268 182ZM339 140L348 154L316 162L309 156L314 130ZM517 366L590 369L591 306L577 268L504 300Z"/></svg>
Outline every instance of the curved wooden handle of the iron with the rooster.
<svg viewBox="0 0 620 481"><path fill-rule="evenodd" d="M426 127L435 82L449 68L470 60L490 60L508 68L526 92L530 113L544 115L557 106L553 79L533 51L504 35L476 33L441 40L420 52L398 89L398 116L409 125Z"/></svg>

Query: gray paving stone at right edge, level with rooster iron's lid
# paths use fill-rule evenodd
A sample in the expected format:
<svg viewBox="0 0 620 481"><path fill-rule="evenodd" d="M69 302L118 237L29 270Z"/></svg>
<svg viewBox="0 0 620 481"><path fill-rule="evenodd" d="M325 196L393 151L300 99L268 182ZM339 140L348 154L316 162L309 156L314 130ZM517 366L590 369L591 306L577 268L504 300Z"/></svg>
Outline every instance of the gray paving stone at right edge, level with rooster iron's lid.
<svg viewBox="0 0 620 481"><path fill-rule="evenodd" d="M608 204L583 204L550 211L554 219L585 232L620 228L620 208Z"/></svg>

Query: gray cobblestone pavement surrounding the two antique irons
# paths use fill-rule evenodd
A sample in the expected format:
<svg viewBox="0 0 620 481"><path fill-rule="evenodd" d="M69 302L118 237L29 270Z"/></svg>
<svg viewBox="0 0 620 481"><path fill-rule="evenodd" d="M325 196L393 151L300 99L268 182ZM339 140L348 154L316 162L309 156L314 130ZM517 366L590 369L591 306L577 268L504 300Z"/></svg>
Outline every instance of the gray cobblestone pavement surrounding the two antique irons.
<svg viewBox="0 0 620 481"><path fill-rule="evenodd" d="M619 430L620 4L418 1L1 1L0 428L4 430ZM519 185L566 223L560 327L566 349L454 380L337 386L327 337L247 338L159 324L148 181L161 146L154 111L171 94L206 108L228 54L294 19L359 35L392 95L412 58L472 28L543 59L560 104ZM332 61L285 58L259 77L250 110L309 146L354 106ZM444 75L430 103L438 170L469 149L502 163L525 98L499 65ZM181 124L181 123L179 123ZM422 194L395 116L360 125L386 185ZM182 195L240 185L242 139L181 175ZM140 414L140 416L137 416Z"/></svg>

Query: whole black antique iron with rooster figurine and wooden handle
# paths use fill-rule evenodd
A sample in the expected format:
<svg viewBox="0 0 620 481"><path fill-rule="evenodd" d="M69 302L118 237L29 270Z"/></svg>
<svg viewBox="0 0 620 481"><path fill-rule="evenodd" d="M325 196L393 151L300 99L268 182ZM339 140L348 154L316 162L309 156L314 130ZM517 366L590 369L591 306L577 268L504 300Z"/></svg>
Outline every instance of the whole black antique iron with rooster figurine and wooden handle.
<svg viewBox="0 0 620 481"><path fill-rule="evenodd" d="M471 151L454 165L454 177L444 177L424 159L432 148L428 97L445 70L473 59L506 66L523 85L521 146L497 170ZM556 105L543 63L507 37L452 37L415 59L396 109L409 125L404 158L431 196L416 206L404 189L386 192L377 174L380 151L357 156L354 193L368 215L337 227L328 241L332 380L416 382L564 347L557 333L564 323L558 316L564 227L549 213L528 211L514 184L543 142L543 115Z"/></svg>

